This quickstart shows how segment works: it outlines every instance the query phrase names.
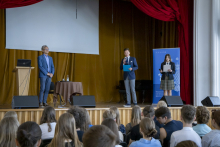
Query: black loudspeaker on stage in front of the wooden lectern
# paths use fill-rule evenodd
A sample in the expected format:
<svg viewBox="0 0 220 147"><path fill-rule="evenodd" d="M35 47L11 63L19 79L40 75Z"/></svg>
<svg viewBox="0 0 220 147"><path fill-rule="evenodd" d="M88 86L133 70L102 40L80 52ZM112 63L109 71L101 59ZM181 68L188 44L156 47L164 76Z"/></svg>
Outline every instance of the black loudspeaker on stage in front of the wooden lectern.
<svg viewBox="0 0 220 147"><path fill-rule="evenodd" d="M39 108L38 96L14 96L11 107L12 109Z"/></svg>

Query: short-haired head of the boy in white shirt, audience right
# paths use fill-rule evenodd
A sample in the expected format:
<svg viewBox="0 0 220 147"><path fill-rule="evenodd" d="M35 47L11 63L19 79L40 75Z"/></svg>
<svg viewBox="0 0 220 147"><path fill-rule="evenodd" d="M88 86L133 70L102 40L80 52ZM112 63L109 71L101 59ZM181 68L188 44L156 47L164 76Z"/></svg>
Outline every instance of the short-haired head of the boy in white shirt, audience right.
<svg viewBox="0 0 220 147"><path fill-rule="evenodd" d="M196 108L192 105L184 105L181 109L181 119L186 124L192 124L195 120Z"/></svg>

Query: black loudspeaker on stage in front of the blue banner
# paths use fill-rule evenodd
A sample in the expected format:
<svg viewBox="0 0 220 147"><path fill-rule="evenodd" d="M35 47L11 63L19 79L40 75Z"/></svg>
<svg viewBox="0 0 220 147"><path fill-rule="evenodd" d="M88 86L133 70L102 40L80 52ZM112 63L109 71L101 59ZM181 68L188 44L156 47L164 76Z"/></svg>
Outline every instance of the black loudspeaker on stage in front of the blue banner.
<svg viewBox="0 0 220 147"><path fill-rule="evenodd" d="M180 96L163 96L160 101L165 101L169 107L183 106L183 101Z"/></svg>

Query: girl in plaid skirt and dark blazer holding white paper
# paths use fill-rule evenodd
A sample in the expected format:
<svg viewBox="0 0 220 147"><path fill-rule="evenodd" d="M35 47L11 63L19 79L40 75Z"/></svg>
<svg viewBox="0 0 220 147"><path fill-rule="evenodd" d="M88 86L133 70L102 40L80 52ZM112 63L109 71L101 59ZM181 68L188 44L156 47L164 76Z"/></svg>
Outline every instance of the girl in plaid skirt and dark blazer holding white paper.
<svg viewBox="0 0 220 147"><path fill-rule="evenodd" d="M171 62L170 54L165 55L164 62L161 63L160 73L162 74L160 89L164 90L164 96L172 96L174 89L175 63Z"/></svg>

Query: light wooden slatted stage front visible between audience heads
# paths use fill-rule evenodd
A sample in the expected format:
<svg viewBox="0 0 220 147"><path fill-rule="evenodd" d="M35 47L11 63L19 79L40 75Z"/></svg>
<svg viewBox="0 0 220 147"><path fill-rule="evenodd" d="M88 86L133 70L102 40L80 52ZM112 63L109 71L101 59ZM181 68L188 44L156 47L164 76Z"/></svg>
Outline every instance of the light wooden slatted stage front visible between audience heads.
<svg viewBox="0 0 220 147"><path fill-rule="evenodd" d="M50 104L53 106L53 104ZM147 104L139 104L139 106L143 109L144 106ZM102 122L102 114L106 109L109 109L111 106L116 106L119 109L120 112L120 119L121 123L126 125L127 123L130 122L131 119L131 109L130 108L124 108L123 104L120 103L98 103L96 105L96 108L86 108L89 112L90 118L91 118L91 123L92 125L100 125ZM56 110L56 119L58 120L59 116L63 113L65 113L69 108L69 105L67 105L65 108L57 108L55 107ZM211 113L212 109L220 109L219 107L207 107L208 110ZM155 107L156 109L156 107ZM172 118L174 120L180 120L180 110L181 107L169 107L171 111ZM7 111L15 111L18 114L18 121L21 123L26 122L26 121L35 121L38 124L40 124L40 118L42 116L43 108L37 108L37 109L11 109L10 105L1 105L0 106L0 120L4 117L4 114ZM208 126L210 126L212 129L213 127L211 126L211 119L208 123Z"/></svg>

